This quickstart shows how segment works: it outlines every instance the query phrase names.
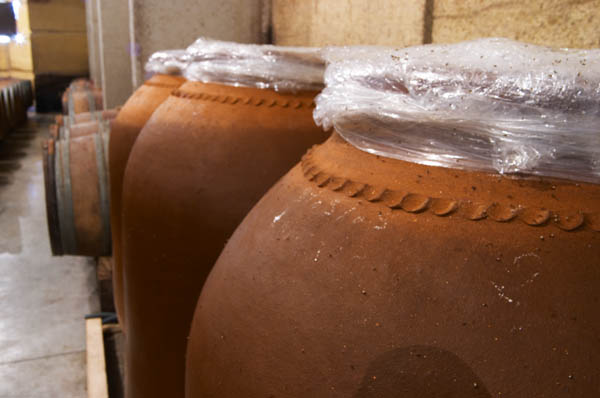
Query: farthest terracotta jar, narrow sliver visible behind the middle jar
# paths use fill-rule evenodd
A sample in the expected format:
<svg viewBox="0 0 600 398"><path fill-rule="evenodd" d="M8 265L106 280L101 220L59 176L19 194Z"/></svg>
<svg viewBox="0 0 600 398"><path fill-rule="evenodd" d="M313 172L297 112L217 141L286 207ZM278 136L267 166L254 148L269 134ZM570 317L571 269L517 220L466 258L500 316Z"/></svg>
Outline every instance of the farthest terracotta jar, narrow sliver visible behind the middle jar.
<svg viewBox="0 0 600 398"><path fill-rule="evenodd" d="M154 75L129 97L112 122L109 147L110 220L113 242L113 294L121 328L127 325L123 305L121 261L121 192L127 159L142 127L169 94L185 82L180 76Z"/></svg>

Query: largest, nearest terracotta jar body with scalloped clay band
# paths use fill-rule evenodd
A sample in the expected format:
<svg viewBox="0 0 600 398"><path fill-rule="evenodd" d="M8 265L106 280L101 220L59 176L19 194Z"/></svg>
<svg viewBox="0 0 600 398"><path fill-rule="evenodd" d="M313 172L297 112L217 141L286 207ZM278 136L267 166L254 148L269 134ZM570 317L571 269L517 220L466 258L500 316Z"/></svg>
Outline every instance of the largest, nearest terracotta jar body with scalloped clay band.
<svg viewBox="0 0 600 398"><path fill-rule="evenodd" d="M596 396L599 265L599 185L418 165L335 134L219 257L186 396Z"/></svg>

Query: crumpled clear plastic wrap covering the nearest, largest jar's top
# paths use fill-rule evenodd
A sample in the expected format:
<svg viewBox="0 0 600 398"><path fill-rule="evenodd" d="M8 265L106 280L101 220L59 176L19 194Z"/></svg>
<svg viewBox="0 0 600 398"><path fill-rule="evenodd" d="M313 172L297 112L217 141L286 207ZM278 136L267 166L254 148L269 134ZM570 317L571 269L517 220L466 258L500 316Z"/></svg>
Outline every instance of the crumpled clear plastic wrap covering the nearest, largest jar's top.
<svg viewBox="0 0 600 398"><path fill-rule="evenodd" d="M323 54L315 120L362 150L600 183L600 50L482 39Z"/></svg>

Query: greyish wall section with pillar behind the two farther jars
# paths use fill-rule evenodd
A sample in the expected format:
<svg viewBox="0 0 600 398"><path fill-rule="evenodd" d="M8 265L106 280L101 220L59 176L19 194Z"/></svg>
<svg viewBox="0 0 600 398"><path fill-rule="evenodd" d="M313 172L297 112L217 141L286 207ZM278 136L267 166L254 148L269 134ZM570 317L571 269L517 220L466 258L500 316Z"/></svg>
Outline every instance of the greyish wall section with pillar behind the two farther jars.
<svg viewBox="0 0 600 398"><path fill-rule="evenodd" d="M156 51L185 48L200 36L241 43L265 40L267 0L88 2L93 3L88 31L96 36L88 40L94 49L90 69L100 77L108 107L123 104L144 82L144 64Z"/></svg>

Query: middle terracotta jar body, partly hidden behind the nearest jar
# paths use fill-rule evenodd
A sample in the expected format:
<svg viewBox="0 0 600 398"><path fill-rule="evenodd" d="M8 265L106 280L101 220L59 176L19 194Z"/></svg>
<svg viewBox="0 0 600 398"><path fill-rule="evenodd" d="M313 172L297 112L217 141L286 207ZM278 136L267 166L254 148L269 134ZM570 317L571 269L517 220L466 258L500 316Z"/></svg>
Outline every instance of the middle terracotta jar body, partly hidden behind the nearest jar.
<svg viewBox="0 0 600 398"><path fill-rule="evenodd" d="M315 95L188 82L143 128L123 183L128 398L183 397L203 281L258 199L326 138Z"/></svg>

